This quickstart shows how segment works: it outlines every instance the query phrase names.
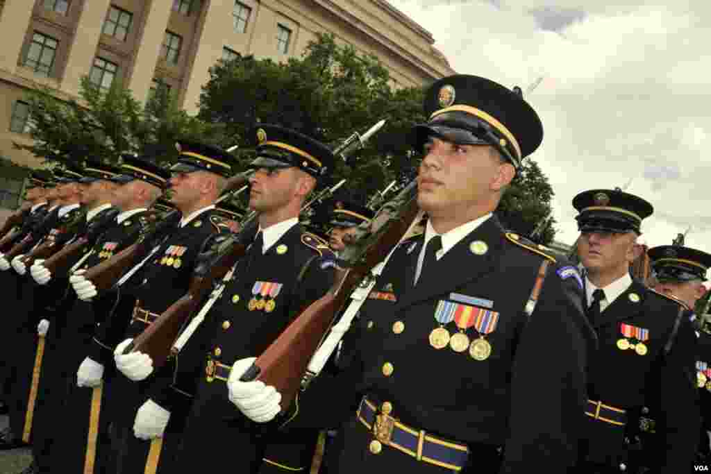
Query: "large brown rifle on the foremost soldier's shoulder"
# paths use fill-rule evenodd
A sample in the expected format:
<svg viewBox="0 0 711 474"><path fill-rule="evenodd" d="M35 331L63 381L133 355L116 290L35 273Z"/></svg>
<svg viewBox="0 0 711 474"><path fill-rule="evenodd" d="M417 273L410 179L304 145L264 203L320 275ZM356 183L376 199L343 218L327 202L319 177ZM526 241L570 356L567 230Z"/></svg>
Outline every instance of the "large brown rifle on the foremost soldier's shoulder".
<svg viewBox="0 0 711 474"><path fill-rule="evenodd" d="M371 269L400 242L417 217L417 182L412 181L383 205L373 222L355 227L336 266L336 279L326 295L314 301L269 345L240 378L259 379L282 394L282 411L289 408L301 386L309 360L348 302L351 293Z"/></svg>

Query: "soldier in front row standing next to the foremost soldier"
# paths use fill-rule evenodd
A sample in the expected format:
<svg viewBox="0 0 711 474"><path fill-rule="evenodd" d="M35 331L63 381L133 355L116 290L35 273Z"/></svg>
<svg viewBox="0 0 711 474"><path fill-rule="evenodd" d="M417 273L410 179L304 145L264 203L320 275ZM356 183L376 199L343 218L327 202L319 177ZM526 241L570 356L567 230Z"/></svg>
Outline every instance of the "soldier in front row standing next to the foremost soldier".
<svg viewBox="0 0 711 474"><path fill-rule="evenodd" d="M237 262L220 300L178 355L176 366L151 389L136 416L136 435L155 438L166 424L169 429L177 417L186 416L176 404L192 402L169 472L201 468L208 452L237 453L228 461L228 470L235 473L306 472L314 454L316 430L262 436L237 411L226 383L235 360L259 355L301 308L324 295L333 279L332 252L298 222L306 196L331 173L333 153L281 126L260 124L255 135L250 208L258 212L257 235ZM144 367L150 367L147 355L123 357L141 357ZM121 358L117 356L117 366L123 371ZM135 367L124 373L133 378L132 372L142 371Z"/></svg>

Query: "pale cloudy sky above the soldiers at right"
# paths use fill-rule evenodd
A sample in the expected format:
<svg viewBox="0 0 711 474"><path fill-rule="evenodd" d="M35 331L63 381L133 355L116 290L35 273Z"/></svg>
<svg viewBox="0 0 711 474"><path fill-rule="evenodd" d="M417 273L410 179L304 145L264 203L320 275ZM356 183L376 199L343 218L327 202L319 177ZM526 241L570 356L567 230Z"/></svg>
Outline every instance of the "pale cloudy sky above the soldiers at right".
<svg viewBox="0 0 711 474"><path fill-rule="evenodd" d="M524 90L543 122L533 159L555 190L557 240L577 237L574 195L629 183L654 205L651 247L691 226L686 244L711 253L711 2L389 1L457 72Z"/></svg>

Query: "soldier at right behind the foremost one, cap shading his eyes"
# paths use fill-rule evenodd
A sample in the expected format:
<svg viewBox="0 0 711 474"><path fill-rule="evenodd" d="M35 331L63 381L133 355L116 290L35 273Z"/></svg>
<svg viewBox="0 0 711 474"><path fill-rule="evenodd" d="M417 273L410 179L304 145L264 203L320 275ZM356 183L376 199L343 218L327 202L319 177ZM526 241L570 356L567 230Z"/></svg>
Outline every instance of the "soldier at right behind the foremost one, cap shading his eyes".
<svg viewBox="0 0 711 474"><path fill-rule="evenodd" d="M652 205L617 188L587 190L573 206L587 316L599 338L589 361L580 472L634 472L641 463L661 473L687 472L698 438L696 336L685 305L629 274ZM656 458L639 461L635 436L648 411L659 414L656 429L663 436Z"/></svg>

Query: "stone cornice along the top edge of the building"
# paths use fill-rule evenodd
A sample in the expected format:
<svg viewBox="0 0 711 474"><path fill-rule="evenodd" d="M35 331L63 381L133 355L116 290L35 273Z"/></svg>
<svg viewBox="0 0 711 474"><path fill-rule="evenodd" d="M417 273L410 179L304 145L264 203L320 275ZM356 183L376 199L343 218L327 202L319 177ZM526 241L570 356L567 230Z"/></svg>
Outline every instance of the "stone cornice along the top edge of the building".
<svg viewBox="0 0 711 474"><path fill-rule="evenodd" d="M360 33L365 34L368 36L368 38L372 39L373 41L379 43L382 45L385 49L390 50L393 54L397 55L398 57L402 58L405 60L407 63L410 63L412 66L414 66L417 70L420 70L424 73L424 75L429 76L432 80L437 80L440 77L444 75L449 75L449 74L454 74L454 70L451 69L449 65L446 63L440 62L442 65L442 72L439 70L432 68L429 66L427 63L422 61L420 58L417 57L417 55L410 53L410 51L406 50L403 48L401 45L395 43L395 41L392 41L390 38L387 38L383 33L380 33L378 30L373 28L373 26L368 25L367 23L363 22L360 18L357 16L351 14L351 12L347 11L346 9L343 9L341 6L338 6L336 3L334 3L332 0L313 0L315 4L321 6L321 8L327 10L334 16L341 18L342 21L348 24L348 26L351 26L352 28L357 29L360 31ZM383 0L374 0L376 3L378 3L380 6L385 6L387 2L383 2ZM389 4L387 4L389 6ZM394 9L394 7L389 6L387 8L387 11L394 15L397 10ZM399 15L397 16L398 21L402 21L402 16L405 16L404 14L397 12ZM407 17L405 17L407 18ZM407 26L412 28L410 26L410 23L414 23L410 18L407 18ZM419 27L419 31L417 32L422 36L422 32L427 33L423 28ZM428 40L428 45L432 45L432 36L429 35ZM437 61L440 61L439 58L437 58L436 55L434 55L434 52L432 50L427 51L427 58L430 59L436 59Z"/></svg>

